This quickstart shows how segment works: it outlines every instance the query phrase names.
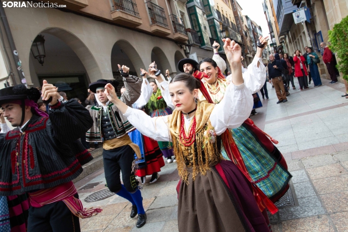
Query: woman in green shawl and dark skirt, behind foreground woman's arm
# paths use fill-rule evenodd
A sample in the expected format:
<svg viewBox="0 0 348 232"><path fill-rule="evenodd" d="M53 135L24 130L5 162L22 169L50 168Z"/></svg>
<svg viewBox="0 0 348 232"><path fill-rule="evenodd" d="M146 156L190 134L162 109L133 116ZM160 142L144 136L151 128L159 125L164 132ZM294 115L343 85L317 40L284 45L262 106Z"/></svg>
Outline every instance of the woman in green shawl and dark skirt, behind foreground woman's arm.
<svg viewBox="0 0 348 232"><path fill-rule="evenodd" d="M155 61L150 64L149 72L151 72L150 70L156 70ZM156 77L155 79L157 81L159 79L164 81L162 74L159 74L159 76L160 78ZM154 77L154 75L152 75L152 77ZM145 105L145 110L151 117L166 116L172 114L173 112L172 109L167 106L166 101L163 99L161 89L157 86L157 81L150 82L150 85L153 88L153 94L151 95L148 103ZM172 143L159 141L158 146L161 149L163 156L167 158L168 163L176 162L175 157L174 159L172 159L172 157L174 156Z"/></svg>

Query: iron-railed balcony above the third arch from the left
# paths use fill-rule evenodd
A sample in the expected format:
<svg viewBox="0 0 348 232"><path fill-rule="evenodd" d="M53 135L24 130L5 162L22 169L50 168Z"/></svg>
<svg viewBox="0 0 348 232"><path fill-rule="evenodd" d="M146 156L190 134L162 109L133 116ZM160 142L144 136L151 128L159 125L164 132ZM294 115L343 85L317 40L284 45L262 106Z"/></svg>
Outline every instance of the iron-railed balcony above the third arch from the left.
<svg viewBox="0 0 348 232"><path fill-rule="evenodd" d="M164 9L151 1L146 2L150 16L151 32L157 36L168 36L171 34Z"/></svg>

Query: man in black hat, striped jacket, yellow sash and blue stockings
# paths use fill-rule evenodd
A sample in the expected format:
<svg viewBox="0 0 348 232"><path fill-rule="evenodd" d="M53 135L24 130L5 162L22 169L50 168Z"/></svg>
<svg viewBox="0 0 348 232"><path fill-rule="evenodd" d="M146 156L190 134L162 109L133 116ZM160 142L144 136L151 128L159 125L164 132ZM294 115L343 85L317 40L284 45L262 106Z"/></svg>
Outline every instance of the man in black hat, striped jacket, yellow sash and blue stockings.
<svg viewBox="0 0 348 232"><path fill-rule="evenodd" d="M140 97L142 78L128 74L129 68L118 64L123 77L125 92L120 99L128 106ZM138 214L136 227L146 223L146 213L142 204L142 197L138 189L138 181L134 174L134 154L140 157L140 149L132 143L128 132L135 130L133 125L119 109L109 101L105 94L105 85L111 83L117 91L117 81L100 79L89 85L89 89L96 94L99 106L87 106L94 124L87 132L86 140L103 142L103 161L106 184L109 190L126 198L132 203L131 218ZM120 172L122 172L121 184Z"/></svg>

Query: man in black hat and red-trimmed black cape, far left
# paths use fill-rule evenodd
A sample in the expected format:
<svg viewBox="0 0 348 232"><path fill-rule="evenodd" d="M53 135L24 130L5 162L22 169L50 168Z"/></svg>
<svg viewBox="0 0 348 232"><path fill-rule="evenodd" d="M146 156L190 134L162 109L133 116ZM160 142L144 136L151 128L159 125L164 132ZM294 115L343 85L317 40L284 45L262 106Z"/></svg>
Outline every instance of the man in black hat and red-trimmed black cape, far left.
<svg viewBox="0 0 348 232"><path fill-rule="evenodd" d="M27 89L24 85L0 90L4 116L17 127L0 134L0 195L8 196L9 214L14 213L15 220L20 213L26 214L26 200L21 196L28 193L31 205L28 232L78 232L79 217L90 217L101 211L84 210L72 182L82 167L76 154L81 147L73 150L71 141L86 133L93 120L75 100L60 103L57 88L46 80L42 98L50 102L49 117L39 111L36 104L39 97L37 89ZM20 218L25 220L25 217ZM13 230L25 229L25 221L17 223L12 224L10 219Z"/></svg>

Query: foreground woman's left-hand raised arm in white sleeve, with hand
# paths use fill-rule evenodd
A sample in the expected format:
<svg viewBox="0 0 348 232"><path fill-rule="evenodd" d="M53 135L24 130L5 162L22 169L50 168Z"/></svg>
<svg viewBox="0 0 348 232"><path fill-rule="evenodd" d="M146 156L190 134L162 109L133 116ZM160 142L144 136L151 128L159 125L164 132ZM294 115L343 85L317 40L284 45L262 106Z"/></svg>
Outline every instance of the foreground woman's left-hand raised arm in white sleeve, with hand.
<svg viewBox="0 0 348 232"><path fill-rule="evenodd" d="M124 104L115 93L115 88L111 84L105 86L105 93L108 99L128 118L128 121L141 134L148 136L156 141L170 141L168 129L168 116L150 117L141 110L133 109Z"/></svg>

